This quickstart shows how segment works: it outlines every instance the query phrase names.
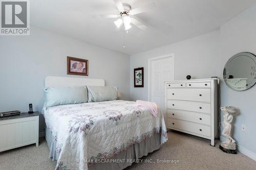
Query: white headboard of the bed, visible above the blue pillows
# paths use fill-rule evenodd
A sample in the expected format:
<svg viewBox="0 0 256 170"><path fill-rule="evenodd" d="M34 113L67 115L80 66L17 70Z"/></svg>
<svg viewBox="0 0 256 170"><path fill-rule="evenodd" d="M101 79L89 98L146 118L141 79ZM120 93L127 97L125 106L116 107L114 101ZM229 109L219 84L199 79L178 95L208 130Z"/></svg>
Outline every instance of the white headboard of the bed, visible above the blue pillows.
<svg viewBox="0 0 256 170"><path fill-rule="evenodd" d="M105 86L103 79L73 78L48 76L45 80L47 87L67 87L67 86Z"/></svg>

